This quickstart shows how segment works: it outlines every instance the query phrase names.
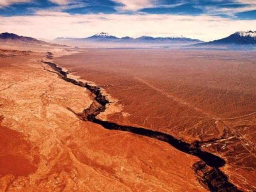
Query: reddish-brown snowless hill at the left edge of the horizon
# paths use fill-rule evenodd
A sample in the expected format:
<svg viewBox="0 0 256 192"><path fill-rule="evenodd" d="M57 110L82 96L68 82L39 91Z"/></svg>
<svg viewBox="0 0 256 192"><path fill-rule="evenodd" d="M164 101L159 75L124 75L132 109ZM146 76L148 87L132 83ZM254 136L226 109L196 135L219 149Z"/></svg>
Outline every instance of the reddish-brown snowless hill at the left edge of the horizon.
<svg viewBox="0 0 256 192"><path fill-rule="evenodd" d="M18 44L37 44L37 45L50 45L50 46L63 46L58 44L52 44L45 41L37 40L32 37L19 36L14 33L1 33L0 42L5 43L18 43Z"/></svg>

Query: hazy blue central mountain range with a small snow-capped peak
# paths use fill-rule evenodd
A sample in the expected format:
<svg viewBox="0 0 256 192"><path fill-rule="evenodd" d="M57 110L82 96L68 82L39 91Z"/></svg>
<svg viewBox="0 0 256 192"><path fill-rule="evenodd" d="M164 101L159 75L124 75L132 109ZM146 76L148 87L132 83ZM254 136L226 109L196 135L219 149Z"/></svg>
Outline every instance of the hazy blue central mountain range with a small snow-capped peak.
<svg viewBox="0 0 256 192"><path fill-rule="evenodd" d="M118 38L112 36L108 33L98 33L87 38L56 38L56 42L111 42L111 43L139 43L139 44L195 44L202 42L198 39L180 37L150 37L150 36L141 36L139 38L132 38L129 36Z"/></svg>

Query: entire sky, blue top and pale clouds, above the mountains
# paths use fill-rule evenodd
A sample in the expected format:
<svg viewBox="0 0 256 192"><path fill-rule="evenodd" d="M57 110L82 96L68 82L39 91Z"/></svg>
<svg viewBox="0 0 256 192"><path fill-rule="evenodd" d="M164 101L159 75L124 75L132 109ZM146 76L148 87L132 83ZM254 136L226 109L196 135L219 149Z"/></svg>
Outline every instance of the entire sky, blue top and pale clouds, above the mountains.
<svg viewBox="0 0 256 192"><path fill-rule="evenodd" d="M40 39L185 36L256 31L256 0L0 0L0 33Z"/></svg>

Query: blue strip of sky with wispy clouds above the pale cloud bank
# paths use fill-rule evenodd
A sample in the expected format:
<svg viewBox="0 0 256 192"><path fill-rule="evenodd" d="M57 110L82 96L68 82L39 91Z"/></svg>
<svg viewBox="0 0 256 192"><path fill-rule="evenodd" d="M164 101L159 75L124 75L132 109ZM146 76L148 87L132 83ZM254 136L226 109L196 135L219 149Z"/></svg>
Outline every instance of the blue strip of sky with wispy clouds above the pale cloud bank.
<svg viewBox="0 0 256 192"><path fill-rule="evenodd" d="M255 0L0 0L1 16L33 15L38 10L70 14L208 14L256 19Z"/></svg>

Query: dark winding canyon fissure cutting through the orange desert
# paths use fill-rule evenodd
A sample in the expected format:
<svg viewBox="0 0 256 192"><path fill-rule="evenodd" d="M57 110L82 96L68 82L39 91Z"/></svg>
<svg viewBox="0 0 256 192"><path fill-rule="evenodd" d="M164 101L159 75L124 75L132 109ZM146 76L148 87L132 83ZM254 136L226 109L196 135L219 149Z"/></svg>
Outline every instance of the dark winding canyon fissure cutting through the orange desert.
<svg viewBox="0 0 256 192"><path fill-rule="evenodd" d="M74 85L84 87L95 95L94 101L96 103L92 103L92 105L89 108L85 109L82 113L76 114L82 120L90 121L95 124L100 124L108 130L126 131L136 135L157 139L170 144L181 152L197 156L201 159L201 161L196 162L193 165L192 169L194 170L196 176L198 176L198 182L200 182L200 184L208 188L211 192L240 192L240 190L238 190L237 187L234 186L234 184L228 182L227 176L219 169L220 167L225 165L225 160L212 153L203 151L201 149L199 141L189 144L162 132L149 130L146 128L122 126L114 122L108 122L98 119L96 118L96 116L101 112L104 112L106 110L106 105L110 103L107 97L102 94L100 87L91 86L88 83L68 78L69 72L63 71L62 68L58 67L52 62L41 62L47 64L53 70L58 72L60 78L62 78L66 82L70 82Z"/></svg>

